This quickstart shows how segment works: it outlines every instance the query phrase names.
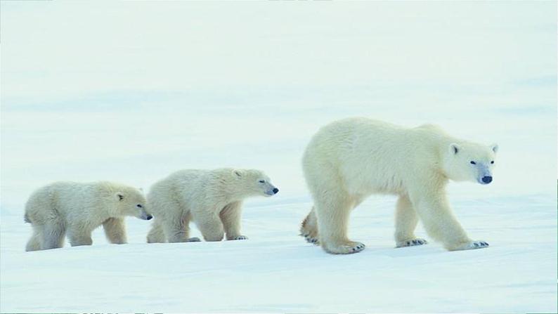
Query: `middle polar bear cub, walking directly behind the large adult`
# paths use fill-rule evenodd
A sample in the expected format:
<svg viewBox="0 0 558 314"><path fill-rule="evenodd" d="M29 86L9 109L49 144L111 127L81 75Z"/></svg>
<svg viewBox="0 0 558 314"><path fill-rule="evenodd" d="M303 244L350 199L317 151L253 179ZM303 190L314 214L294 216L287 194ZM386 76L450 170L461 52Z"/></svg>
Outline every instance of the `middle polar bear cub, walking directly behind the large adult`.
<svg viewBox="0 0 558 314"><path fill-rule="evenodd" d="M242 200L279 192L259 170L187 169L176 171L155 183L148 193L148 206L155 219L148 243L195 242L190 238L193 221L206 241L247 239L240 234Z"/></svg>

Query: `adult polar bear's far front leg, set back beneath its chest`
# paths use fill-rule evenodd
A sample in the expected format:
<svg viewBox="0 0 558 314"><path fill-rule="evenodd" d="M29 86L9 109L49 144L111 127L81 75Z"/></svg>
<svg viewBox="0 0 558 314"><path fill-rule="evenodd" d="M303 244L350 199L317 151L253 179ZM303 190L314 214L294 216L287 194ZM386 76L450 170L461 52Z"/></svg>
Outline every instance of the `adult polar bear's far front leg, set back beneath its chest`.
<svg viewBox="0 0 558 314"><path fill-rule="evenodd" d="M396 247L413 247L427 244L427 240L415 237L418 216L408 195L401 195L397 200L395 211Z"/></svg>

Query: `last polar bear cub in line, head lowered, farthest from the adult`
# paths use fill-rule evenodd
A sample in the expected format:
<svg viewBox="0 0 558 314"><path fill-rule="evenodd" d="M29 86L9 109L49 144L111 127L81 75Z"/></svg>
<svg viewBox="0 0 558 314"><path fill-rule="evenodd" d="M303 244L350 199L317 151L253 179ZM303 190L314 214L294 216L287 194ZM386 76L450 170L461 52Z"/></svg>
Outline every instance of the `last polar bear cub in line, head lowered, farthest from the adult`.
<svg viewBox="0 0 558 314"><path fill-rule="evenodd" d="M103 225L109 242L124 244L124 216L153 218L145 211L140 190L108 181L46 185L33 192L25 204L25 222L33 228L25 250L63 247L66 233L72 247L91 245L91 232L99 225Z"/></svg>

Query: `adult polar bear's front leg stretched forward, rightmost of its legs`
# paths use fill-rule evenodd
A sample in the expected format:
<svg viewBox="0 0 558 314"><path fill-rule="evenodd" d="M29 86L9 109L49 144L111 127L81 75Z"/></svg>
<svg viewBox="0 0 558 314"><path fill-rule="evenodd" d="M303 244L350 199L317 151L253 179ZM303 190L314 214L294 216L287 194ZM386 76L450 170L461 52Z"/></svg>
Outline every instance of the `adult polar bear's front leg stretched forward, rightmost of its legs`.
<svg viewBox="0 0 558 314"><path fill-rule="evenodd" d="M436 241L443 243L449 251L481 249L488 247L484 241L469 239L465 230L453 216L446 193L443 190L410 191L413 207L427 230Z"/></svg>

